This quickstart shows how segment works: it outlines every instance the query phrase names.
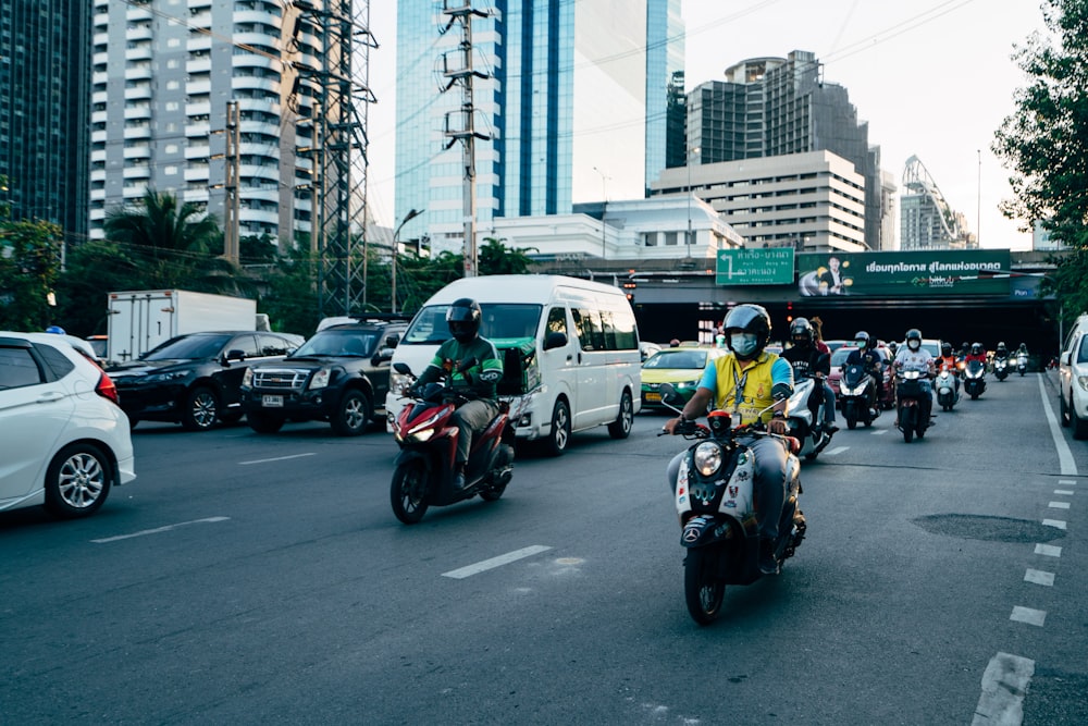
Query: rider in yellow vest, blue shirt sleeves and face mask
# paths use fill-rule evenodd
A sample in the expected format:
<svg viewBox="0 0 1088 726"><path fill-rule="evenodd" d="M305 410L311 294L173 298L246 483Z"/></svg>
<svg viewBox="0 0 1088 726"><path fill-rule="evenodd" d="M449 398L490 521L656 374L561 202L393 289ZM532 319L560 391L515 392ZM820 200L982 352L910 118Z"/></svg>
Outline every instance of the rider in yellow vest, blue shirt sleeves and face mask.
<svg viewBox="0 0 1088 726"><path fill-rule="evenodd" d="M775 542L778 520L786 501L786 473L789 433L787 404L793 392L793 369L784 358L764 350L770 342L770 316L759 305L738 305L721 323L729 353L706 365L694 395L679 418L669 419L663 430L677 433L677 427L706 414L707 406L732 413L734 426L763 422L772 436L745 434L741 443L752 451L755 460L754 488L761 503L759 571L777 575ZM685 452L669 463L668 480L676 492L677 475Z"/></svg>

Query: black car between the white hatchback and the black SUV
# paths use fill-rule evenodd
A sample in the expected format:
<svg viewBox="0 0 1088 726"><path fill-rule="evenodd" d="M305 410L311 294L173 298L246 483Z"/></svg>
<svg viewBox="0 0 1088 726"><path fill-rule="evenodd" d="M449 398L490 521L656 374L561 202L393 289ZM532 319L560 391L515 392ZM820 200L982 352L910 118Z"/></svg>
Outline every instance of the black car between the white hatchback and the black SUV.
<svg viewBox="0 0 1088 726"><path fill-rule="evenodd" d="M242 379L249 366L282 360L302 341L289 333L187 333L107 372L133 427L169 421L206 431L217 421L242 419Z"/></svg>

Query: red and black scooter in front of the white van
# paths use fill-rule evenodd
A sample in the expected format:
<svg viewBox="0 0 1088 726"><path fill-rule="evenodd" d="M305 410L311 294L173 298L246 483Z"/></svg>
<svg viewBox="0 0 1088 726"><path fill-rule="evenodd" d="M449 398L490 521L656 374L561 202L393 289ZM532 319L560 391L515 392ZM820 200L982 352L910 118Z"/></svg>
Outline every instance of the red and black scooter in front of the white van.
<svg viewBox="0 0 1088 726"><path fill-rule="evenodd" d="M467 370L473 365L475 360L470 359L461 368ZM396 362L393 368L415 382L416 376L407 364ZM500 401L498 415L472 438L465 488L458 490L454 487L458 429L452 417L469 399L444 383L428 383L418 395L408 397L412 402L400 409L393 426L400 453L394 462L390 500L397 519L415 525L431 506L463 502L477 494L485 502L498 500L514 476L515 433L509 423L509 403Z"/></svg>

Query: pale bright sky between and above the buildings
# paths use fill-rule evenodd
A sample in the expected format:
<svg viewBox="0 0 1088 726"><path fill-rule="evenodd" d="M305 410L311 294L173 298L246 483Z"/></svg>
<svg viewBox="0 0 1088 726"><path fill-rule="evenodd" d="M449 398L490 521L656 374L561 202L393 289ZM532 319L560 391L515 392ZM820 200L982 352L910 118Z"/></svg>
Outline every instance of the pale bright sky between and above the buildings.
<svg viewBox="0 0 1088 726"><path fill-rule="evenodd" d="M869 144L898 185L917 156L981 247L1030 248L1022 223L998 209L1012 190L990 146L1015 109L1015 90L1028 84L1012 54L1043 29L1039 2L683 0L682 14L689 90L749 58L812 51L824 81L845 87L868 122ZM380 224L395 226L396 3L371 0L370 27L379 47L370 51L378 102L368 112L368 201ZM630 198L640 194L635 182ZM608 196L623 195L609 187Z"/></svg>

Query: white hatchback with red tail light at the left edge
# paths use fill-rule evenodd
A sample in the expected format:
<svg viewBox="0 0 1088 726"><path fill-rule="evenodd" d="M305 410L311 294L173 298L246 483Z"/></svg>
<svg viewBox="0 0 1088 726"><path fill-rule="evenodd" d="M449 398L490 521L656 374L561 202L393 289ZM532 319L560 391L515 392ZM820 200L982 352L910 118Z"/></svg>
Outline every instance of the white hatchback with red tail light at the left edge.
<svg viewBox="0 0 1088 726"><path fill-rule="evenodd" d="M113 381L63 336L0 331L0 510L72 519L136 478Z"/></svg>

